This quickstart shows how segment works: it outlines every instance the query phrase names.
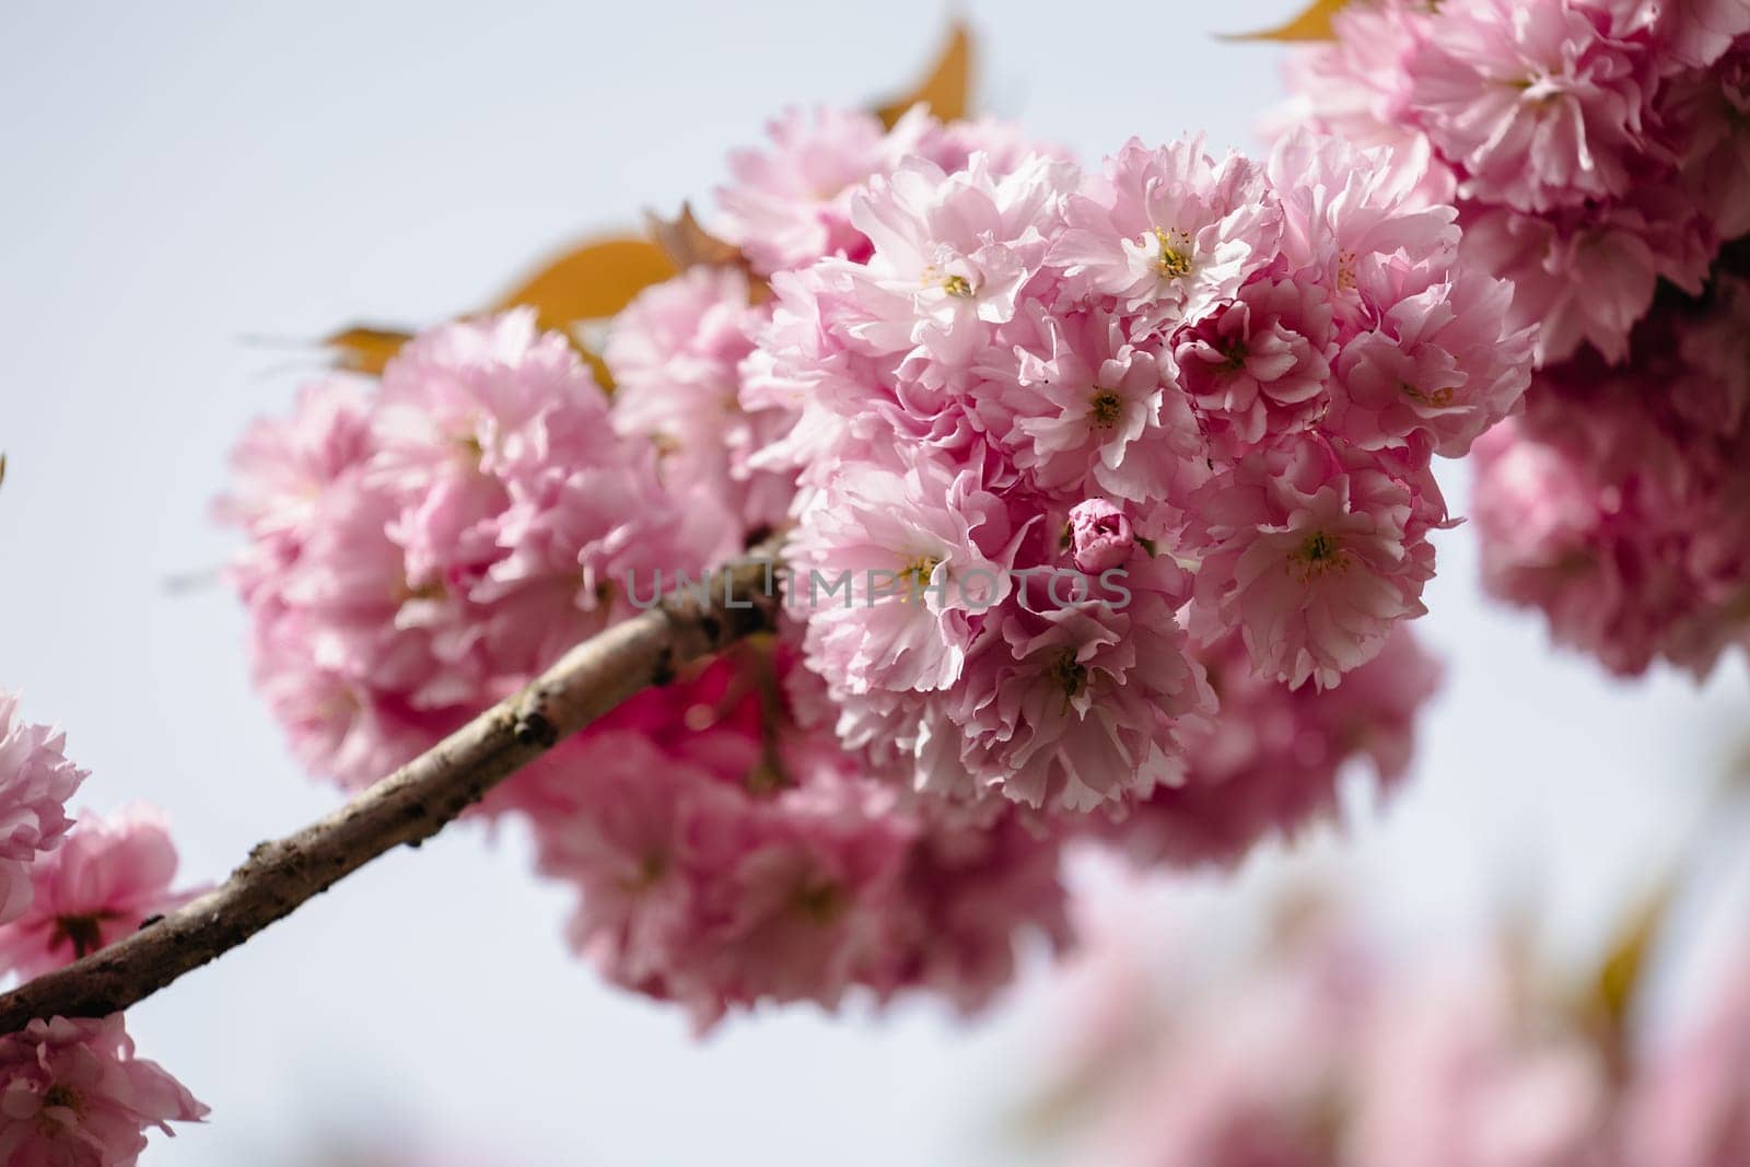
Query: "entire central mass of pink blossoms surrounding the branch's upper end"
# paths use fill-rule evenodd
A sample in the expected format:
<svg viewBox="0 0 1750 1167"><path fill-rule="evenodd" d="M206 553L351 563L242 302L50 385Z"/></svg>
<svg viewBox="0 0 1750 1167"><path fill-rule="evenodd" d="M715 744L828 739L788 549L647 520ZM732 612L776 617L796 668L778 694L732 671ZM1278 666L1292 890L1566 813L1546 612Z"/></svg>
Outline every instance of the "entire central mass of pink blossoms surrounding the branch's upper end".
<svg viewBox="0 0 1750 1167"><path fill-rule="evenodd" d="M578 891L579 954L700 1024L978 1006L1017 943L1071 940L1066 845L1230 863L1346 763L1402 773L1430 458L1514 408L1531 345L1451 208L1328 140L1082 175L922 110L789 114L730 171L740 261L609 322L611 394L513 311L238 446L256 681L312 770L369 782L777 548L774 635L481 808Z"/></svg>

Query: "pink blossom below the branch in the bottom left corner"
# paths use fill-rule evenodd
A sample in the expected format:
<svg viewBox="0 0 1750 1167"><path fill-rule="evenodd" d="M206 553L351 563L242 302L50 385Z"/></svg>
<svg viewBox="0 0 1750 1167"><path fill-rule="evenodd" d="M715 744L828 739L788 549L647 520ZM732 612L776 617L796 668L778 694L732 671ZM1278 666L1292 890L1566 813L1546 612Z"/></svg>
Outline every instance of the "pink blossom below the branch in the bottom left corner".
<svg viewBox="0 0 1750 1167"><path fill-rule="evenodd" d="M35 1020L0 1038L0 1164L131 1167L145 1130L206 1108L158 1062L136 1059L121 1013Z"/></svg>

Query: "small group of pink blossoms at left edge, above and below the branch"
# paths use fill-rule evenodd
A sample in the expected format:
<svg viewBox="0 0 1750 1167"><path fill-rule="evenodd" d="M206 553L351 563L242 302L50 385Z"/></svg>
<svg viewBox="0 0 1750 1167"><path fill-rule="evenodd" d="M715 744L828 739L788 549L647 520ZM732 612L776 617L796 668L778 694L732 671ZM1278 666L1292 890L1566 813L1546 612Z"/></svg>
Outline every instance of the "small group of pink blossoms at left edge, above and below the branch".
<svg viewBox="0 0 1750 1167"><path fill-rule="evenodd" d="M18 717L0 691L0 971L35 976L186 903L163 821L133 807L110 821L66 817L86 772L65 735ZM200 1122L206 1108L161 1066L136 1059L122 1015L33 1020L0 1036L0 1164L117 1164L145 1130Z"/></svg>

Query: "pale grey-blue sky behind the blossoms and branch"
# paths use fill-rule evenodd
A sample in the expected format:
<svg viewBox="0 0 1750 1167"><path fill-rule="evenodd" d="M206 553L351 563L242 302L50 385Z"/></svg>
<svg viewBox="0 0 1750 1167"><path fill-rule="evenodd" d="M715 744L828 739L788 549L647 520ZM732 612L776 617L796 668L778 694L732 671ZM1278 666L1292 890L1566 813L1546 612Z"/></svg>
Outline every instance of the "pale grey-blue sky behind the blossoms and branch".
<svg viewBox="0 0 1750 1167"><path fill-rule="evenodd" d="M1255 147L1281 49L1216 33L1293 0L765 5L58 5L0 9L0 684L70 730L84 803L173 819L186 875L334 805L250 693L210 520L245 423L282 411L352 320L425 324L562 243L709 196L788 103L910 82L952 14L978 108L1097 159L1208 131ZM1444 481L1463 509L1463 467ZM1197 877L1213 938L1312 873L1404 945L1535 912L1584 964L1676 857L1676 999L1750 871L1710 810L1738 765L1745 668L1612 682L1484 602L1440 539L1424 640L1447 682L1388 807ZM214 1108L147 1162L1027 1164L1054 976L964 1020L936 1003L735 1018L602 987L525 840L455 829L371 864L130 1013ZM1082 873L1094 899L1129 896ZM1153 910L1153 908L1152 908ZM1689 943L1692 941L1692 943Z"/></svg>

